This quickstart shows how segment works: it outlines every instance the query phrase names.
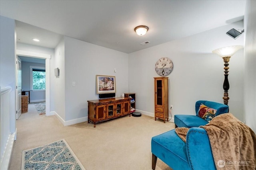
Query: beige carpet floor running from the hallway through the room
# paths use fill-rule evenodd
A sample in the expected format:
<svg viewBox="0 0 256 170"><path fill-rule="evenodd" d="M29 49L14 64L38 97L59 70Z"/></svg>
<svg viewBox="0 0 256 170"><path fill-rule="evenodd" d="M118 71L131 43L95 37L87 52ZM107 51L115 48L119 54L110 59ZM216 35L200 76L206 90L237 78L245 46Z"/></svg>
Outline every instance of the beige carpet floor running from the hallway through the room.
<svg viewBox="0 0 256 170"><path fill-rule="evenodd" d="M105 123L87 121L64 127L56 116L38 115L33 104L16 120L10 170L20 170L22 151L65 139L86 170L151 170L151 138L174 129L154 117L121 117ZM157 160L156 170L171 170Z"/></svg>

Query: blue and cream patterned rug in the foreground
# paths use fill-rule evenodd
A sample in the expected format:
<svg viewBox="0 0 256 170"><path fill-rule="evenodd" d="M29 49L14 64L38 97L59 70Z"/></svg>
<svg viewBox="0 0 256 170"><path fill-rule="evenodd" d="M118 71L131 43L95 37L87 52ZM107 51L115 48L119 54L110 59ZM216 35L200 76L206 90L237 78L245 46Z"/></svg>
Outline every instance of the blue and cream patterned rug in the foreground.
<svg viewBox="0 0 256 170"><path fill-rule="evenodd" d="M64 139L23 150L22 170L85 170Z"/></svg>

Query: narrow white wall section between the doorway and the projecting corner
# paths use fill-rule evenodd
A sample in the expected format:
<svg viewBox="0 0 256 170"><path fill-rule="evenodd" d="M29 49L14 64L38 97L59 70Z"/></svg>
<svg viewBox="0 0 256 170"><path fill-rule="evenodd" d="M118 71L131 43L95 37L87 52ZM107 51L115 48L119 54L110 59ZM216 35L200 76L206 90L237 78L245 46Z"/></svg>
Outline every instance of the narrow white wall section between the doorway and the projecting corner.
<svg viewBox="0 0 256 170"><path fill-rule="evenodd" d="M64 38L55 48L54 68L60 69L60 76L53 76L54 111L65 120L65 47Z"/></svg>

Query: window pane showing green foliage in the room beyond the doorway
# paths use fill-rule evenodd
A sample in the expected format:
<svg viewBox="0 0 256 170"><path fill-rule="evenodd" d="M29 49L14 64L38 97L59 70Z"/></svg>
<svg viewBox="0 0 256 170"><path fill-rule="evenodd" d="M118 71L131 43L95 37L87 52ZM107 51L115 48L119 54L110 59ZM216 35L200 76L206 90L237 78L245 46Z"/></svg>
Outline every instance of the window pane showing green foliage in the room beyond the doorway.
<svg viewBox="0 0 256 170"><path fill-rule="evenodd" d="M33 90L45 90L45 71L33 71Z"/></svg>

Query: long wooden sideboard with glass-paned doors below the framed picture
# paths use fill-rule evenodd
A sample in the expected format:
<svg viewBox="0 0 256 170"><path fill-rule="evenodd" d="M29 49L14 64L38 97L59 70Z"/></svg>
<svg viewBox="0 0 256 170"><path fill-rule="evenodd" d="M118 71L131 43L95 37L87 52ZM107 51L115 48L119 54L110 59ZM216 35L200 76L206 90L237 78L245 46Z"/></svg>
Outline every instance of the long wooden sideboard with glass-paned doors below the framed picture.
<svg viewBox="0 0 256 170"><path fill-rule="evenodd" d="M88 123L96 123L130 115L130 98L88 100Z"/></svg>

